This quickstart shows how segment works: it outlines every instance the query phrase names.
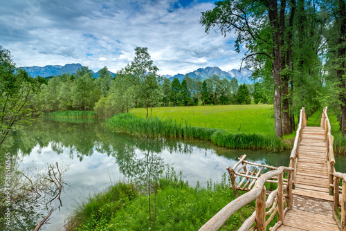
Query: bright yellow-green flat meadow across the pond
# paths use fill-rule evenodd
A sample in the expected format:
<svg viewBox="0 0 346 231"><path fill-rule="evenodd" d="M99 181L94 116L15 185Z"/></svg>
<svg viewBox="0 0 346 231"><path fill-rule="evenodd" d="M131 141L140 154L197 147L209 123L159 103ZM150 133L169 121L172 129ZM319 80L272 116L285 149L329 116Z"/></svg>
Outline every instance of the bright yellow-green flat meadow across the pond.
<svg viewBox="0 0 346 231"><path fill-rule="evenodd" d="M232 133L261 133L274 135L273 107L268 104L216 105L194 107L159 107L152 117L188 122L193 127L224 129ZM145 118L145 109L131 109L130 113Z"/></svg>

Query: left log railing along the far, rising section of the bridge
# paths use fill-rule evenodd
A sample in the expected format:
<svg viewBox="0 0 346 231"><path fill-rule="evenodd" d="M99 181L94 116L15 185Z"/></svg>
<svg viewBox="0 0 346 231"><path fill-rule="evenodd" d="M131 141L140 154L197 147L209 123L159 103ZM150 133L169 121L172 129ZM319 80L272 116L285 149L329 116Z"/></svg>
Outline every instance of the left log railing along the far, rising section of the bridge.
<svg viewBox="0 0 346 231"><path fill-rule="evenodd" d="M295 169L297 168L299 158L299 141L302 139L302 129L307 127L307 115L305 114L304 107L300 110L298 129L294 139L293 149L291 151L289 167L293 169L293 181L295 180Z"/></svg>

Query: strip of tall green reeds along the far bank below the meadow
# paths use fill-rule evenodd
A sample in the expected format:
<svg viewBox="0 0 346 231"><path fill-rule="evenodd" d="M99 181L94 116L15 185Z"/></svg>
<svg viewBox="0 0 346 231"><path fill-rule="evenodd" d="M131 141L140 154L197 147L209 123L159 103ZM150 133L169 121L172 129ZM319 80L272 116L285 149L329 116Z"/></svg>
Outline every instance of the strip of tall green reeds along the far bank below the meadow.
<svg viewBox="0 0 346 231"><path fill-rule="evenodd" d="M240 149L268 149L281 151L289 148L285 142L270 134L231 133L223 129L192 127L188 122L172 119L138 118L131 113L114 115L104 125L115 132L131 136L171 137L211 140L219 147Z"/></svg>

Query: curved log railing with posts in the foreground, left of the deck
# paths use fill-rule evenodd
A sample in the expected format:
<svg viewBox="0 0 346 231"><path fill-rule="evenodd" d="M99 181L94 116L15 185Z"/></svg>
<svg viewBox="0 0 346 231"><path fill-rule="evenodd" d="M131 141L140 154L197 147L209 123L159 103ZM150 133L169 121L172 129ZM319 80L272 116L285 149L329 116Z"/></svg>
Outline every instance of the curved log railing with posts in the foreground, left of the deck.
<svg viewBox="0 0 346 231"><path fill-rule="evenodd" d="M284 185L284 172L288 173L287 185ZM250 216L242 225L239 230L257 230L266 231L266 226L270 223L275 214L277 213L277 223L273 227L276 230L284 221L284 213L288 210L287 207L291 207L293 203L292 187L293 187L293 176L291 167L278 167L277 169L267 172L260 176L255 182L253 189L235 200L231 201L222 208L215 216L213 216L207 223L205 223L199 231L213 231L218 230L229 218L251 201L256 200L256 210L252 216ZM266 201L266 187L264 183L268 180L277 176L277 190L271 192ZM286 194L284 194L286 190ZM275 200L275 196L277 199ZM284 210L284 203L286 203L286 209ZM271 209L266 212L266 208ZM266 221L266 216L271 214L269 219ZM251 226L256 225L251 228Z"/></svg>

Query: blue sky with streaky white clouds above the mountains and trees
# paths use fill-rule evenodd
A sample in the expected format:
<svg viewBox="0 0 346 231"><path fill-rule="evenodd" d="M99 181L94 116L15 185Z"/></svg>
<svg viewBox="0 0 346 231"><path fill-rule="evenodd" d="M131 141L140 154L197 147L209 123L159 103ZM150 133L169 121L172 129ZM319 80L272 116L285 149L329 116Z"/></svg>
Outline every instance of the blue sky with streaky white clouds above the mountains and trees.
<svg viewBox="0 0 346 231"><path fill-rule="evenodd" d="M17 66L80 63L124 68L147 47L161 75L197 68L239 68L234 34L199 24L213 0L0 0L0 46ZM244 52L244 50L243 50Z"/></svg>

